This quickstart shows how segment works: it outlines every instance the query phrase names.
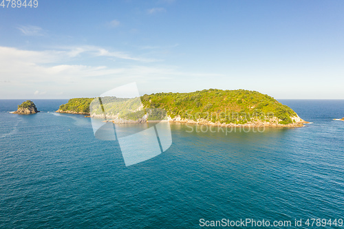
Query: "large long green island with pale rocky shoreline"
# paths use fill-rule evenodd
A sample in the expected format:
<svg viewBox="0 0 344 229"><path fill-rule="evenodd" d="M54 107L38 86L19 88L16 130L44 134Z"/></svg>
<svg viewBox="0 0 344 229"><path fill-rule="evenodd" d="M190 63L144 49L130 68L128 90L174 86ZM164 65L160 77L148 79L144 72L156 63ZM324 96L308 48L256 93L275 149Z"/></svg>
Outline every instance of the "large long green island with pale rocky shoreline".
<svg viewBox="0 0 344 229"><path fill-rule="evenodd" d="M250 127L303 127L308 123L275 98L244 89L145 94L140 98L72 98L56 112L87 114L115 123L162 119Z"/></svg>

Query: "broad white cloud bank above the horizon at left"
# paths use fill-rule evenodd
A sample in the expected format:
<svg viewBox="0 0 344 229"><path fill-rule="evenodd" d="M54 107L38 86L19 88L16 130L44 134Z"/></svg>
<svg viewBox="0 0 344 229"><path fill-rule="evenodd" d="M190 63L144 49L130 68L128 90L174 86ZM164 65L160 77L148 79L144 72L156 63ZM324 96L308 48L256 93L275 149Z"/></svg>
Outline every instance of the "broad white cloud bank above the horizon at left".
<svg viewBox="0 0 344 229"><path fill-rule="evenodd" d="M100 62L99 58L103 58L102 56L116 56L124 58L128 64L115 67L85 63L65 64L69 61L83 60L85 55L93 58L94 61L90 63ZM65 98L97 96L103 91L131 82L145 85L142 87L165 87L169 90L171 83L180 85L180 80L177 78L200 80L202 77L220 76L180 72L176 67L166 65L139 65L140 61L136 61L138 59L125 53L110 52L95 46L65 47L45 51L0 47L0 82L8 80L11 82L0 83L0 98L30 98L32 94L36 98L56 98L62 96L61 91ZM152 92L156 92L156 89Z"/></svg>

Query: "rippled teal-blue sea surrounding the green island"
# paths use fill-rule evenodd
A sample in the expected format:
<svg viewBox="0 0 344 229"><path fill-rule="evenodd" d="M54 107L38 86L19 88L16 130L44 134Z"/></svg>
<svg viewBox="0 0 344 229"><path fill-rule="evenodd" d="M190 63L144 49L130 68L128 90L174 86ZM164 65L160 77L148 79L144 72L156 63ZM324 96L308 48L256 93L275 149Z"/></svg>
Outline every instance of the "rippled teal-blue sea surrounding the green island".
<svg viewBox="0 0 344 229"><path fill-rule="evenodd" d="M280 100L312 122L302 128L171 124L171 147L132 166L118 142L94 137L89 118L54 113L67 100L9 113L21 102L0 100L0 228L212 228L222 219L344 228L328 224L344 219L344 122L333 120L344 100Z"/></svg>

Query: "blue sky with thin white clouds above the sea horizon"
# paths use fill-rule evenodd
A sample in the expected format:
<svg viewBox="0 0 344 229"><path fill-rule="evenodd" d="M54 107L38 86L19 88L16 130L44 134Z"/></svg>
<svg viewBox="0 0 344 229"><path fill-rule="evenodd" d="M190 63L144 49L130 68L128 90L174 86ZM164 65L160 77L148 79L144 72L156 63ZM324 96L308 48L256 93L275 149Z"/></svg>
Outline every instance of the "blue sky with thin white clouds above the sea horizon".
<svg viewBox="0 0 344 229"><path fill-rule="evenodd" d="M22 0L23 2L23 0ZM344 99L344 1L66 1L0 6L0 99L248 89Z"/></svg>

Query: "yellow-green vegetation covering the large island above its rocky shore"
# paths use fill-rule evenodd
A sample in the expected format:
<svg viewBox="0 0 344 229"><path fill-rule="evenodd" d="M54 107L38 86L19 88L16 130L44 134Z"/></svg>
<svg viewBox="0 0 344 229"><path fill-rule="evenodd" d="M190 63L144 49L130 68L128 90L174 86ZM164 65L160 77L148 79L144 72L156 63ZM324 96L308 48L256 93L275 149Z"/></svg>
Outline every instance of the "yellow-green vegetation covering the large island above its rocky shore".
<svg viewBox="0 0 344 229"><path fill-rule="evenodd" d="M89 105L93 99L73 98L66 105L61 105L60 110L89 113ZM110 98L107 98L108 102L103 101L107 113L121 113L124 110L117 100L120 99L117 98L111 101ZM157 93L144 95L141 100L144 108L164 109L171 118L175 118L175 116L193 120L204 118L212 122L220 121L227 124L244 124L255 120L257 117L264 120L272 116L281 119L281 124L289 124L292 122L290 117L297 116L297 113L290 107L282 105L274 98L257 91L243 89L226 91L208 89L191 93ZM124 101L127 107L133 105L132 112L137 107L137 98ZM97 109L96 113L99 113L98 111L100 109ZM130 114L128 116L128 113L123 113L123 116L129 118Z"/></svg>

